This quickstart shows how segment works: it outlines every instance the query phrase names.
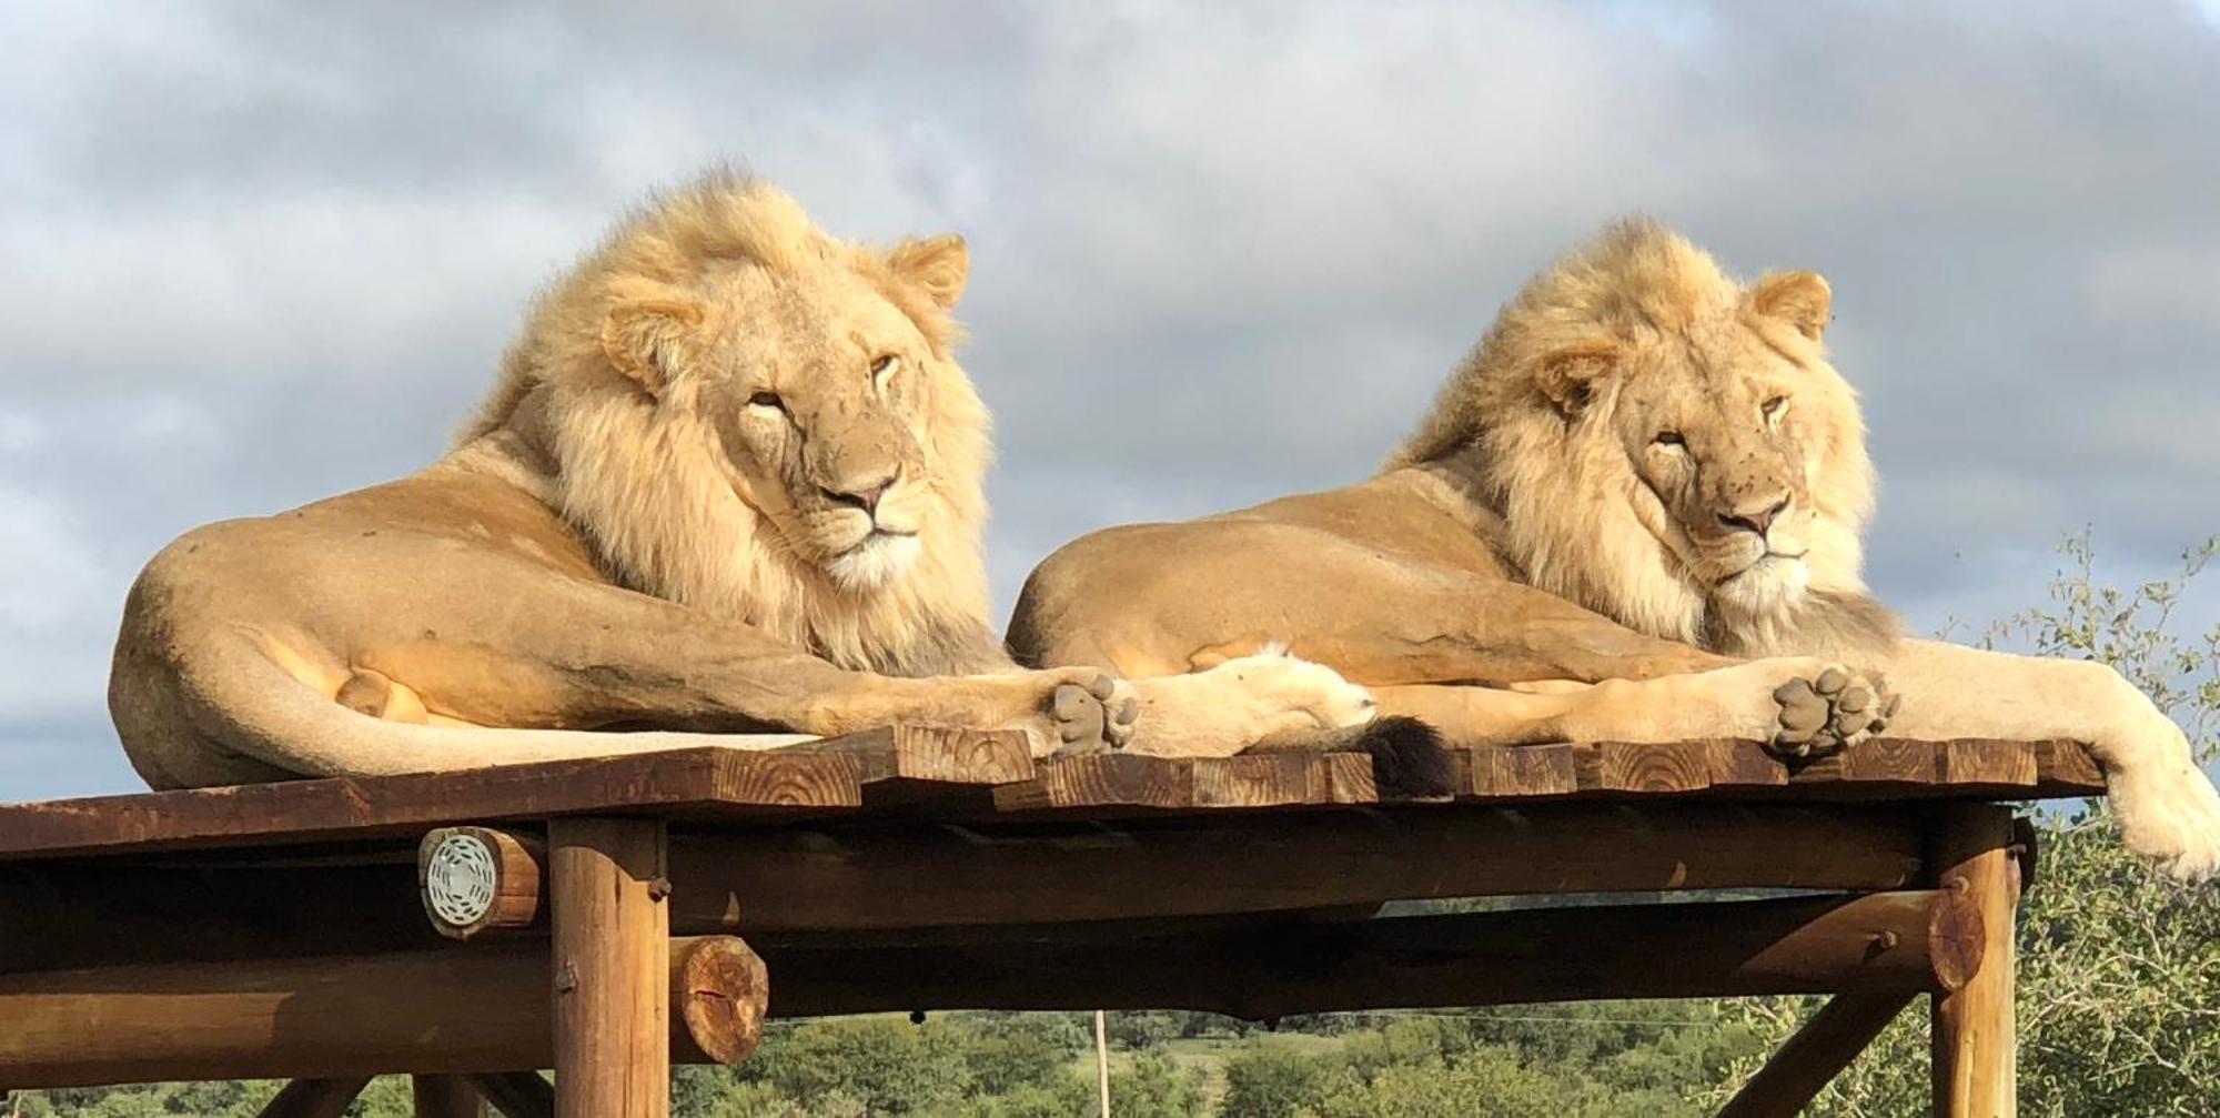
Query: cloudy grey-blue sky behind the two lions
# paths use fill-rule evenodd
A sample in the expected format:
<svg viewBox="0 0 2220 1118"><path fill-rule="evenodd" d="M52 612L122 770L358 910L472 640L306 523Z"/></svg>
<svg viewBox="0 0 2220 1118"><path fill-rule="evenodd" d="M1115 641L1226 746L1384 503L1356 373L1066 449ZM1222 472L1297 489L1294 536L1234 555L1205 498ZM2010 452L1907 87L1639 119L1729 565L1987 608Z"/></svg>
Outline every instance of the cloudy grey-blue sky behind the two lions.
<svg viewBox="0 0 2220 1118"><path fill-rule="evenodd" d="M431 461L533 288L715 160L970 237L1003 608L1083 530L1361 477L1625 211L1829 275L1923 628L2082 526L2116 577L2220 530L2220 0L7 0L0 42L0 801L135 785L155 548Z"/></svg>

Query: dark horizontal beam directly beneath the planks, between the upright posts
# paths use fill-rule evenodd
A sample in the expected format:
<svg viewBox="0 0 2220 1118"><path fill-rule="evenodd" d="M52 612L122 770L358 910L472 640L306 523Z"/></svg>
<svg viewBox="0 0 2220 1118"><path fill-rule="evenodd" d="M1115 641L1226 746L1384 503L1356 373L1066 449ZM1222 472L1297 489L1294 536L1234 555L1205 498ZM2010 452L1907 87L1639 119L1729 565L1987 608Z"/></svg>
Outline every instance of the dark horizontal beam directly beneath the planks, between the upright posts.
<svg viewBox="0 0 2220 1118"><path fill-rule="evenodd" d="M1037 827L677 834L677 932L1285 912L1436 896L1891 890L1914 816L1776 805L1399 807Z"/></svg>

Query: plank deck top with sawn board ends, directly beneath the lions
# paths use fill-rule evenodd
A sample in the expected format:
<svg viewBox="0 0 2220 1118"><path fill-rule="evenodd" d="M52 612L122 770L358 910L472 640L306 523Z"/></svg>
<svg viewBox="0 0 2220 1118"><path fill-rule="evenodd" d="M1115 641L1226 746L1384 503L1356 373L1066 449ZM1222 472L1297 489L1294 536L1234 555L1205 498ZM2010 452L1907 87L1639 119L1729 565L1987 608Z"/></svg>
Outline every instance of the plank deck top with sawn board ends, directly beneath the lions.
<svg viewBox="0 0 2220 1118"><path fill-rule="evenodd" d="M1292 754L1301 756L1301 754ZM0 805L0 861L249 843L406 836L559 814L717 823L866 805L948 819L1365 803L1354 754L1172 761L1132 754L1035 765L1010 734L895 728L777 752L673 750L415 776L286 781ZM2073 743L1865 741L1787 772L1747 741L1527 745L1456 759L1474 799L1656 794L1752 799L1985 799L2102 794ZM1028 779L1026 772L1032 772ZM1585 772L1585 779L1583 779ZM1785 787L1783 787L1785 785ZM988 794L992 790L992 794Z"/></svg>

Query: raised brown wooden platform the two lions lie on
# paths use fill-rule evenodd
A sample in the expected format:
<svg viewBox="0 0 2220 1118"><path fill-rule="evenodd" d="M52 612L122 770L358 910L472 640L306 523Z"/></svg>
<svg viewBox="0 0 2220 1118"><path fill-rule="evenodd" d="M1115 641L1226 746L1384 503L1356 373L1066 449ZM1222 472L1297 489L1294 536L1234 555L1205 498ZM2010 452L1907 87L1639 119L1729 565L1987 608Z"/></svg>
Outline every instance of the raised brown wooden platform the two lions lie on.
<svg viewBox="0 0 2220 1118"><path fill-rule="evenodd" d="M633 1096L668 1054L735 1058L766 1012L1829 992L1827 1029L1729 1114L1794 1114L1918 994L1938 1091L1971 1107L1938 1114L1996 1114L2031 852L1994 801L2102 783L2071 743L1871 741L1792 770L1696 741L1470 750L1456 790L1383 803L1361 754L1035 763L1015 734L892 728L0 805L0 1087L411 1071L448 1100L426 1107L475 1089L524 1118L551 1102L519 1071L555 1065L559 1114L630 1116L662 1114ZM426 907L424 838L453 827L500 872L468 929ZM1754 887L1814 894L1372 916Z"/></svg>

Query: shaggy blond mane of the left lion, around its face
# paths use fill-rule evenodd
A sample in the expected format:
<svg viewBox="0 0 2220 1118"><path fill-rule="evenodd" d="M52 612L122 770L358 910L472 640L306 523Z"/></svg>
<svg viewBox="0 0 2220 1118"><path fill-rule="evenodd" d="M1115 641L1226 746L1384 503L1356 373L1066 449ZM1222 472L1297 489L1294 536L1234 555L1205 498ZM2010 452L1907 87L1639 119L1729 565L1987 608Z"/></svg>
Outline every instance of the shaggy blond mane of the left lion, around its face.
<svg viewBox="0 0 2220 1118"><path fill-rule="evenodd" d="M497 386L462 430L497 459L533 461L513 479L593 541L619 586L755 623L833 663L886 674L977 670L988 630L986 470L990 421L957 366L961 337L932 297L921 242L879 251L817 228L777 189L733 171L650 197L571 273L544 291L508 350ZM921 430L932 510L919 557L886 586L841 586L793 555L722 475L717 433L688 382L657 402L613 368L610 311L653 302L713 268L848 268L908 315L932 348ZM961 277L955 280L957 284Z"/></svg>

